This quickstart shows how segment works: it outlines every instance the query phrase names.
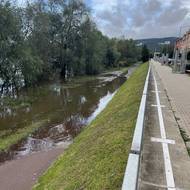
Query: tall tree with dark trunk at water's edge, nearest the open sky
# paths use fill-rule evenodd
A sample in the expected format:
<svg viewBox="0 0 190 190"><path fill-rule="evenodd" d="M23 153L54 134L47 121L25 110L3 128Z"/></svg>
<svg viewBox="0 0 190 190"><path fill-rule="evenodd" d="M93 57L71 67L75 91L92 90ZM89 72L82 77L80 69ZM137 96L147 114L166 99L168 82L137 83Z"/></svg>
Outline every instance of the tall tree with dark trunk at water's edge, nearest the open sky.
<svg viewBox="0 0 190 190"><path fill-rule="evenodd" d="M61 76L66 78L72 73L72 62L75 59L75 53L78 39L80 38L81 24L88 14L88 11L82 1L54 1L54 9L59 11L54 12L56 21L56 37L55 43L58 47L59 67Z"/></svg>

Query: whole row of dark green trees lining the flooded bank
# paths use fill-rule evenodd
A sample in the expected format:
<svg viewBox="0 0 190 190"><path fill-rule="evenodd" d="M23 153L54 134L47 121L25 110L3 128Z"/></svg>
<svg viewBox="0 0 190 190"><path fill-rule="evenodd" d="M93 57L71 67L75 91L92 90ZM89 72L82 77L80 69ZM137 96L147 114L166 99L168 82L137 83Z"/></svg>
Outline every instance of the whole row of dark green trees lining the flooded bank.
<svg viewBox="0 0 190 190"><path fill-rule="evenodd" d="M141 59L132 39L110 39L78 0L0 1L0 92L94 75Z"/></svg>

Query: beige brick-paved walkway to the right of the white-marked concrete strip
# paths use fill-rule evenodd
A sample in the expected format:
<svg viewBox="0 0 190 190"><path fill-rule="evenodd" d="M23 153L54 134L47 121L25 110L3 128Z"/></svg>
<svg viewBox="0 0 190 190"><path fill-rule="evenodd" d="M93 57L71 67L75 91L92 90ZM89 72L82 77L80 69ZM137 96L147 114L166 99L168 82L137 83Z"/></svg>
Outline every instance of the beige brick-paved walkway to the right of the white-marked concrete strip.
<svg viewBox="0 0 190 190"><path fill-rule="evenodd" d="M190 75L172 73L168 66L153 63L161 78L180 127L190 137Z"/></svg>

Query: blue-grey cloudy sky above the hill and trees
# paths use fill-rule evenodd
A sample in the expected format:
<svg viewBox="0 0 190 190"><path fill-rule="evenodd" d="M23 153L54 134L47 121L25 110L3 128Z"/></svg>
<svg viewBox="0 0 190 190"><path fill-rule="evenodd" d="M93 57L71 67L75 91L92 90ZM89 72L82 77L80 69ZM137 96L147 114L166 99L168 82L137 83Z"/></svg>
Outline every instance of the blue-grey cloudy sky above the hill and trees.
<svg viewBox="0 0 190 190"><path fill-rule="evenodd" d="M98 28L110 37L179 36L190 28L190 0L86 0ZM188 30L183 27L182 31Z"/></svg>

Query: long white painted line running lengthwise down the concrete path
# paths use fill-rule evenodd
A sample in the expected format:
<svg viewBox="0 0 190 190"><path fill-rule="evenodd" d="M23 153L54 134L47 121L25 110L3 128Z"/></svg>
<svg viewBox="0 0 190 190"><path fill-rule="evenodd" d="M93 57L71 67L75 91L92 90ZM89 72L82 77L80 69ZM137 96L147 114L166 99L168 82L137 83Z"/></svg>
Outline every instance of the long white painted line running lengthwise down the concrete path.
<svg viewBox="0 0 190 190"><path fill-rule="evenodd" d="M158 109L158 118L159 118L161 138L166 139L166 131L165 131L165 126L164 126L162 109L161 109L161 105L160 105L158 85L157 85L156 78L155 78L154 74L153 74L153 78L154 78L154 85L155 85L155 91L156 91L156 102L158 105L157 109ZM168 190L171 190L171 189L175 190L176 188L175 188L175 182L174 182L174 177L173 177L173 170L172 170L172 165L171 165L171 160L170 160L170 153L169 153L168 144L162 143L162 149L163 149L163 156L164 156L164 165L165 165L167 187L168 187Z"/></svg>

